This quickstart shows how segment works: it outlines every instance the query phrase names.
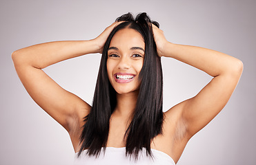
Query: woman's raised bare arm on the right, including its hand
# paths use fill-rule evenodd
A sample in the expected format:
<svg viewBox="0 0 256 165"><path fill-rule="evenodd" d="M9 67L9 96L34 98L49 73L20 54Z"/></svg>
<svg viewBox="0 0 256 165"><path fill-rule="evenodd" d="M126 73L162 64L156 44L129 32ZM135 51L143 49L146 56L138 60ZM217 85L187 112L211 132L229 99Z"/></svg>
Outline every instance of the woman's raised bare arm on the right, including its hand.
<svg viewBox="0 0 256 165"><path fill-rule="evenodd" d="M155 26L153 30L159 56L175 58L213 76L199 94L172 108L180 111L179 120L182 120L186 136L190 138L224 108L239 81L243 64L221 52L170 43L161 30Z"/></svg>

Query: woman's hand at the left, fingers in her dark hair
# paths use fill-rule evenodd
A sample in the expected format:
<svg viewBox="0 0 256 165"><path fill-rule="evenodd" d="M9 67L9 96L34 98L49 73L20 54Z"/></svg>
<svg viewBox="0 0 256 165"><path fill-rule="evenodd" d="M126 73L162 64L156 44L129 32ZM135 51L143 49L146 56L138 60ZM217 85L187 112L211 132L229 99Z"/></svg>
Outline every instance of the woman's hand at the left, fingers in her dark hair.
<svg viewBox="0 0 256 165"><path fill-rule="evenodd" d="M120 23L122 23L124 21L120 21L120 22L114 22L112 23L112 25L108 26L108 28L106 28L104 30L104 32L102 32L101 34L99 34L99 36L97 36L96 39L93 39L96 44L98 45L99 47L99 50L97 51L98 53L102 53L103 52L103 49L104 49L104 45L108 39L108 36L109 34L112 32L112 30L117 26L119 25Z"/></svg>

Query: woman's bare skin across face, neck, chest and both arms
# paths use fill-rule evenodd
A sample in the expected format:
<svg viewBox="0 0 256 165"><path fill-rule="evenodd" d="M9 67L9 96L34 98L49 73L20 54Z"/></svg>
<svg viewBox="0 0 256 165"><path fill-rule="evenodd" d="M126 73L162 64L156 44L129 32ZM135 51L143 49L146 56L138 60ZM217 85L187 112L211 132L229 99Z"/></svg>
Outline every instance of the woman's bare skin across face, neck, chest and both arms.
<svg viewBox="0 0 256 165"><path fill-rule="evenodd" d="M75 94L61 88L42 69L84 54L102 53L108 35L119 23L121 22L112 23L96 39L90 41L42 43L12 53L15 69L28 94L68 131L75 152L79 151L83 117L90 113L91 107ZM224 108L239 81L243 64L237 58L221 52L170 43L166 41L163 31L155 25L152 25L152 28L159 56L175 58L213 76L210 83L195 97L175 105L164 113L164 133L152 140L151 148L170 155L177 163L188 140ZM130 36L130 39L124 41L124 36ZM117 32L110 43L110 47L118 48L108 50L107 62L110 82L117 91L117 108L110 118L107 146L125 146L124 132L130 122L130 114L135 109L139 81L133 84L130 82L130 85L127 83L127 88L121 89L121 85L111 78L117 72L139 74L144 52L130 48L144 48L141 38L135 30L124 29Z"/></svg>

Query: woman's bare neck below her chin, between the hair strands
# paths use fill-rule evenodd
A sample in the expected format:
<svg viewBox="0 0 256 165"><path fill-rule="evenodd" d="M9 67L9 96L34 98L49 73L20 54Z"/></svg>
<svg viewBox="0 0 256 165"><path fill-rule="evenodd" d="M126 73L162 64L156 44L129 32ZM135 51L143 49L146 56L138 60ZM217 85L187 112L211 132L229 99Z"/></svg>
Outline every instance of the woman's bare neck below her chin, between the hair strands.
<svg viewBox="0 0 256 165"><path fill-rule="evenodd" d="M117 107L113 114L119 115L126 119L132 117L135 111L139 90L128 94L117 94Z"/></svg>

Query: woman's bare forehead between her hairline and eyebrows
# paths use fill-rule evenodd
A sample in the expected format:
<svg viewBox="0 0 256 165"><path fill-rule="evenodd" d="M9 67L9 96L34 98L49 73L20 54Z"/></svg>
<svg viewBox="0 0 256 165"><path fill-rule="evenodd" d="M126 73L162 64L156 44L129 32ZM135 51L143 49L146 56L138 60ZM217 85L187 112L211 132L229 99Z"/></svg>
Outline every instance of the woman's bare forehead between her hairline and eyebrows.
<svg viewBox="0 0 256 165"><path fill-rule="evenodd" d="M144 39L136 30L125 28L115 33L110 41L109 47L128 48L142 47L145 50Z"/></svg>

